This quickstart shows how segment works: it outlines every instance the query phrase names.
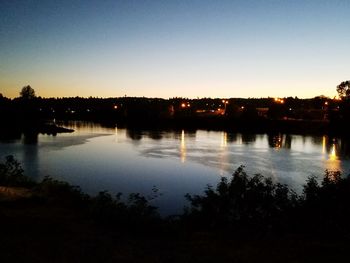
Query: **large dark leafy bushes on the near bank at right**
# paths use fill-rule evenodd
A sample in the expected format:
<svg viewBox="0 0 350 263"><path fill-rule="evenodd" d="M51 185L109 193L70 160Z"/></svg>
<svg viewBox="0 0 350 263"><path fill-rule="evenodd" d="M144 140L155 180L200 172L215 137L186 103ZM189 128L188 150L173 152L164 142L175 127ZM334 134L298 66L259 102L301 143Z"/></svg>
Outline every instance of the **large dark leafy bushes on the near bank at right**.
<svg viewBox="0 0 350 263"><path fill-rule="evenodd" d="M240 166L230 180L187 199L183 219L194 228L350 237L350 179L339 171L326 171L321 184L310 177L297 195L270 178L248 176Z"/></svg>

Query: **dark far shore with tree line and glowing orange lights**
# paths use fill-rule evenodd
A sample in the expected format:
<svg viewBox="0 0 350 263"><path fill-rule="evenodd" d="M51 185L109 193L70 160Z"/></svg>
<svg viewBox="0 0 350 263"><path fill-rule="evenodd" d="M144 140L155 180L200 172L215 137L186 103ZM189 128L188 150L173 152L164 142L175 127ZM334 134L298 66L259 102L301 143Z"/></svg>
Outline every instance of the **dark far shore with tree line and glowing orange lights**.
<svg viewBox="0 0 350 263"><path fill-rule="evenodd" d="M253 127L257 126L254 124L256 122L265 122L266 126L268 120L318 120L329 121L332 127L341 128L342 123L350 119L349 81L338 85L337 91L341 100L325 96L312 99L42 98L27 85L21 89L17 98L8 99L0 96L0 119L29 124L38 120L60 119L130 125L193 125L218 128L232 126L232 123Z"/></svg>

